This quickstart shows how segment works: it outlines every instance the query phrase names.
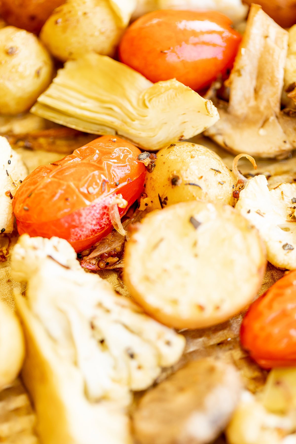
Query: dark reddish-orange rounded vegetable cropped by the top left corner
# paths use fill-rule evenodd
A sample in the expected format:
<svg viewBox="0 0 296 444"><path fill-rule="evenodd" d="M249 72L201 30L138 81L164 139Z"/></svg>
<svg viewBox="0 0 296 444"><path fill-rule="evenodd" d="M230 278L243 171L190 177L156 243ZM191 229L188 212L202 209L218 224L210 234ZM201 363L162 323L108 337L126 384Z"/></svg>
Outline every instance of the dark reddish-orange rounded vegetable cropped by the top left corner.
<svg viewBox="0 0 296 444"><path fill-rule="evenodd" d="M0 0L0 16L8 25L39 34L51 12L65 0Z"/></svg>

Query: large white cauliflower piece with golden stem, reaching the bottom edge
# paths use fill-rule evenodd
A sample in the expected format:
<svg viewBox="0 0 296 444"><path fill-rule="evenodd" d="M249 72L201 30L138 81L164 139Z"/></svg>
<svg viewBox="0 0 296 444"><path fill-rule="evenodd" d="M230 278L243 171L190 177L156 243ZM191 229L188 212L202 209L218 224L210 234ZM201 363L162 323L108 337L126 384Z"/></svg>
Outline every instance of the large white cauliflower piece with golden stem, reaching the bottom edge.
<svg viewBox="0 0 296 444"><path fill-rule="evenodd" d="M27 341L24 383L43 444L130 443L126 406L180 358L185 339L86 274L63 239L20 237L12 275Z"/></svg>

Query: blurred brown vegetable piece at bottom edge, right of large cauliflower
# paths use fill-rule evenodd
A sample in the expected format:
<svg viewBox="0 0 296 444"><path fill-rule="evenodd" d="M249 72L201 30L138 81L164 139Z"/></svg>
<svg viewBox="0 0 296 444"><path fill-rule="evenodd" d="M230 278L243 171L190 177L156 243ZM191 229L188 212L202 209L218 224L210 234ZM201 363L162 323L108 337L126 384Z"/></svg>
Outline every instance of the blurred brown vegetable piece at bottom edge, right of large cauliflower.
<svg viewBox="0 0 296 444"><path fill-rule="evenodd" d="M191 362L146 392L133 415L140 444L205 444L225 428L240 396L232 365Z"/></svg>

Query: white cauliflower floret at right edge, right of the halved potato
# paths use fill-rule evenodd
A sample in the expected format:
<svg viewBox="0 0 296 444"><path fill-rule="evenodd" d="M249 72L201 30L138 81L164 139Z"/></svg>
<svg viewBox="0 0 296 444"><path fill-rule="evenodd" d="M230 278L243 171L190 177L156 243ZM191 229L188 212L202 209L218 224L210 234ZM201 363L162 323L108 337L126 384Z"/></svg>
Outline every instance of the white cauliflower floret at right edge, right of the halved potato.
<svg viewBox="0 0 296 444"><path fill-rule="evenodd" d="M240 192L236 209L259 230L274 266L296 269L296 184L268 190L263 174L251 178Z"/></svg>

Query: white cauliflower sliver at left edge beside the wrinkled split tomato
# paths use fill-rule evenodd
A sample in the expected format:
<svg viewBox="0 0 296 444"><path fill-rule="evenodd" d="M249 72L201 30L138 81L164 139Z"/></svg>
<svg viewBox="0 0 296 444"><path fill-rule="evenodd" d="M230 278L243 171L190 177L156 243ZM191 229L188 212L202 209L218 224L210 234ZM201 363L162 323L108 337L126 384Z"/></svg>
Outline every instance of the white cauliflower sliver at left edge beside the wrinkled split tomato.
<svg viewBox="0 0 296 444"><path fill-rule="evenodd" d="M13 230L14 214L12 197L27 176L21 157L12 150L8 140L0 136L0 230L11 233Z"/></svg>

